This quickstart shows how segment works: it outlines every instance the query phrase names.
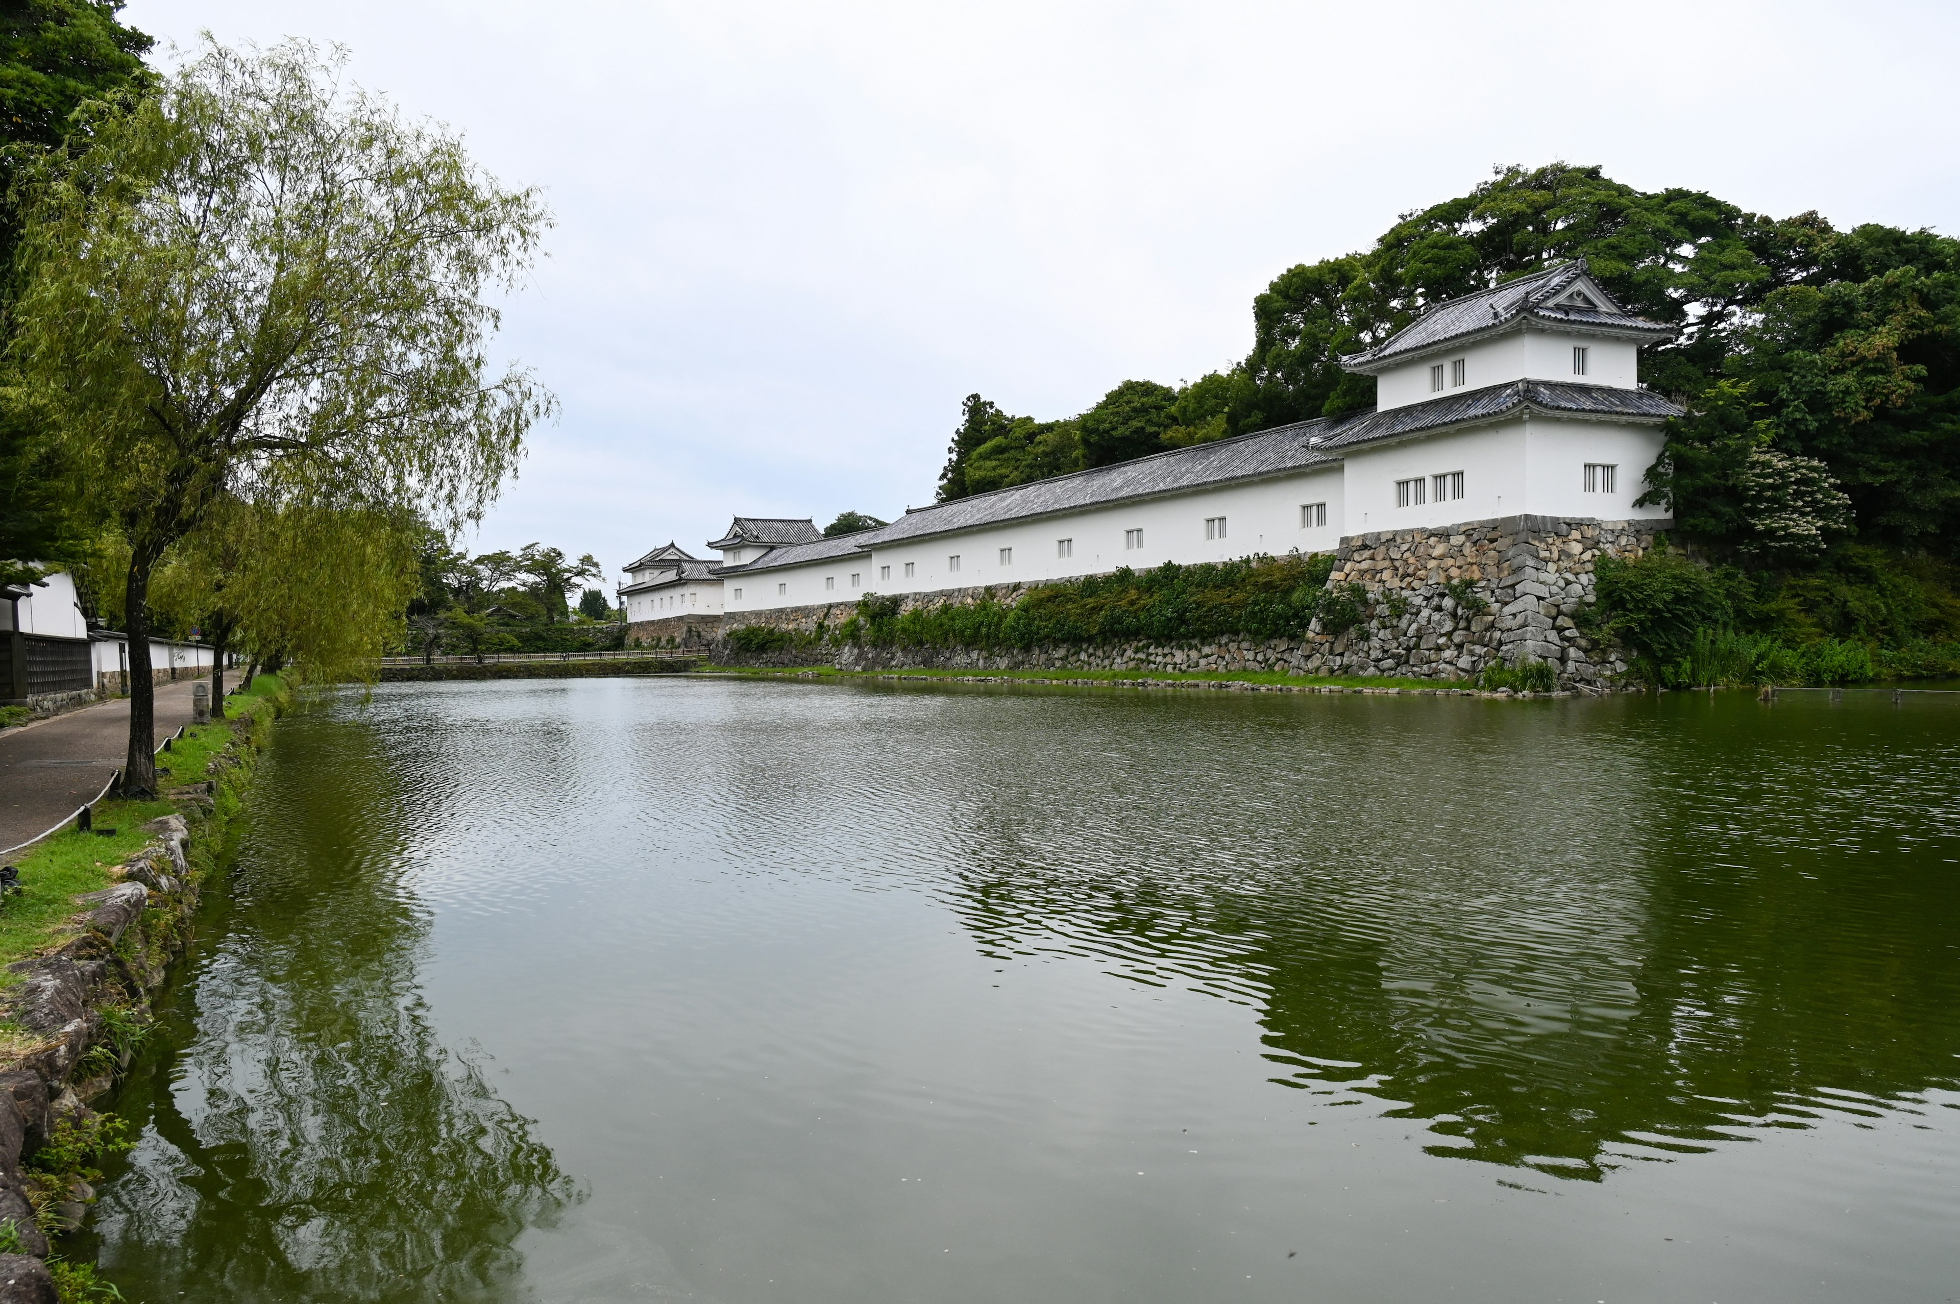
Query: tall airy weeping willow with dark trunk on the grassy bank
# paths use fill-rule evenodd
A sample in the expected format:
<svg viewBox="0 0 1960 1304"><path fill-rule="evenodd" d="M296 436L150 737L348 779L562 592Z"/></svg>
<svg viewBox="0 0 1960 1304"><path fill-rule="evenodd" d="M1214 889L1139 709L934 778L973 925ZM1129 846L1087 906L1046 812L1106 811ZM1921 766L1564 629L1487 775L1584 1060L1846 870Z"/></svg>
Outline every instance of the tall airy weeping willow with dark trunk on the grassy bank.
<svg viewBox="0 0 1960 1304"><path fill-rule="evenodd" d="M343 551L319 565L347 580L374 545L347 522L480 518L555 406L486 357L486 300L549 226L537 192L343 67L206 41L25 178L12 363L129 547L129 796L155 792L149 586L174 545L235 498L327 529ZM368 637L318 627L335 592L280 616L329 661Z"/></svg>

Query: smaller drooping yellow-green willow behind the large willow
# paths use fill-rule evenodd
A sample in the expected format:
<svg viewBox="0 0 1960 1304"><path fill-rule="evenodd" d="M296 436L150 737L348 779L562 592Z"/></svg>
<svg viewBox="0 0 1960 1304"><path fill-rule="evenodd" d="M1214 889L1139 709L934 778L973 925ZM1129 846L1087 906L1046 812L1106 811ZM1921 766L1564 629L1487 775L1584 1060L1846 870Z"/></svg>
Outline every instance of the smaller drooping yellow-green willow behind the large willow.
<svg viewBox="0 0 1960 1304"><path fill-rule="evenodd" d="M151 582L151 610L212 643L212 714L223 716L225 655L290 663L310 682L370 678L419 592L412 514L263 508L223 498Z"/></svg>

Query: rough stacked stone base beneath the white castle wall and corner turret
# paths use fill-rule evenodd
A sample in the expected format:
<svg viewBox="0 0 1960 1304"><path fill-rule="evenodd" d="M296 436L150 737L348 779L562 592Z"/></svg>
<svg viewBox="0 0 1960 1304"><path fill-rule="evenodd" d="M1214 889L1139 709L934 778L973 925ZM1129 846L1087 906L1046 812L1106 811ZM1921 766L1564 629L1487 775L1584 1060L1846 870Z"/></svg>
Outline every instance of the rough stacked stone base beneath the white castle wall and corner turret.
<svg viewBox="0 0 1960 1304"><path fill-rule="evenodd" d="M1335 551L1329 588L1360 584L1370 614L1298 639L1211 639L1190 645L1051 645L988 651L972 647L827 647L737 657L723 637L711 655L755 665L837 665L845 671L1280 671L1466 680L1495 665L1543 661L1564 688L1603 688L1625 675L1617 647L1590 637L1580 612L1593 596L1599 557L1635 559L1670 522L1595 522L1509 516L1439 529L1350 535ZM1450 592L1450 590L1456 592ZM953 588L906 598L906 610L972 602L992 592L1015 602L1017 586ZM1460 600L1458 600L1460 594ZM849 602L759 612L751 624L821 635L853 612ZM635 626L639 629L641 626Z"/></svg>

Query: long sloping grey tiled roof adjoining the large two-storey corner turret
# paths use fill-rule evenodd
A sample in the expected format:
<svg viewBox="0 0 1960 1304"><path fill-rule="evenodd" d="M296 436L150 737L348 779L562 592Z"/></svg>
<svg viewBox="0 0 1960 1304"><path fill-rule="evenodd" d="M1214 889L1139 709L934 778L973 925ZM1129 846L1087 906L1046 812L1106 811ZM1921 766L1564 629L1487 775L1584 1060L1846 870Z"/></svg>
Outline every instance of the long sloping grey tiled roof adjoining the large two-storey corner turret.
<svg viewBox="0 0 1960 1304"><path fill-rule="evenodd" d="M1070 512L1105 502L1123 502L1127 498L1170 494L1198 488L1200 484L1223 484L1227 480L1249 480L1282 471L1299 471L1333 461L1317 447L1307 447L1309 437L1325 435L1331 427L1333 422L1319 418L1233 439L1219 439L1215 443L1200 443L1188 449L1152 453L1151 457L1117 463L1115 467L1096 467L1094 471L1058 475L1051 480L996 488L970 498L915 508L890 526L868 529L862 537L868 547L884 547L904 539L947 533L951 529L974 529L1025 516L1047 516L1051 512Z"/></svg>

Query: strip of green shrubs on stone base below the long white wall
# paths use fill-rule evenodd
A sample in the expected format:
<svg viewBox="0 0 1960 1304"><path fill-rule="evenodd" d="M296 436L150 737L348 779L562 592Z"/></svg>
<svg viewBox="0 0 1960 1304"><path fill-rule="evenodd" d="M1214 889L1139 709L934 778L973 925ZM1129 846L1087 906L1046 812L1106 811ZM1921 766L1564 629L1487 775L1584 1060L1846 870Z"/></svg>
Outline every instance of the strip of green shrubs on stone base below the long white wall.
<svg viewBox="0 0 1960 1304"><path fill-rule="evenodd" d="M1121 569L1037 584L1013 604L992 592L974 602L902 610L866 594L837 639L866 647L1039 647L1047 643L1190 643L1225 635L1305 633L1321 614L1331 555L1247 557L1196 567Z"/></svg>

